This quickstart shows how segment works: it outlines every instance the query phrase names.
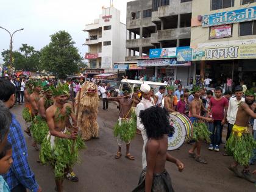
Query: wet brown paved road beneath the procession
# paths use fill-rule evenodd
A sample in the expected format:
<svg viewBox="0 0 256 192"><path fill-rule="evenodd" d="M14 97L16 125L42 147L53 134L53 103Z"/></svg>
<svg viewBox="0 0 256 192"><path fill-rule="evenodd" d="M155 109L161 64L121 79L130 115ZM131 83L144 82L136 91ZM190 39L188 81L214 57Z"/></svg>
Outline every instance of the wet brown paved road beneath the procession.
<svg viewBox="0 0 256 192"><path fill-rule="evenodd" d="M26 125L21 117L23 105L16 105L12 112L20 121L23 129ZM124 155L116 160L114 155L118 148L113 137L113 125L118 119L118 110L115 104L110 104L108 111L102 111L98 115L100 126L100 138L86 142L87 149L80 152L80 163L74 166L74 171L79 177L79 182L73 183L65 180L66 192L126 192L138 183L141 172L141 150L143 140L140 135L132 141L130 152L135 156L134 161L127 160ZM43 191L54 192L54 174L49 166L43 166L36 162L38 152L31 147L32 139L25 135L29 150L29 163L35 172L38 183ZM124 146L125 147L125 146ZM208 151L204 145L202 156L207 157L208 165L201 165L188 157L188 149L191 146L184 144L180 150L172 151L174 157L179 158L185 164L183 172L177 171L172 163L166 163L166 169L171 175L174 190L179 191L256 191L256 186L244 179L235 177L227 166L232 162L231 157L222 156L220 152ZM125 154L125 148L123 150ZM256 166L251 166L251 170Z"/></svg>

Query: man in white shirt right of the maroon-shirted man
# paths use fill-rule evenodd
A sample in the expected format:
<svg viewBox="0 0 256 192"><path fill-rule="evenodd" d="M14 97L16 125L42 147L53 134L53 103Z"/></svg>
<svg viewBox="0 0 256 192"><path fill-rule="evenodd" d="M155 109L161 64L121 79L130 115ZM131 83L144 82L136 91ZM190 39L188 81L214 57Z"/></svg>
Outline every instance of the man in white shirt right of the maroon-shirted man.
<svg viewBox="0 0 256 192"><path fill-rule="evenodd" d="M243 87L240 85L235 87L235 96L229 99L229 108L227 109L227 137L226 141L229 139L232 132L233 125L235 124L236 113L238 106L241 102L244 102L243 98Z"/></svg>

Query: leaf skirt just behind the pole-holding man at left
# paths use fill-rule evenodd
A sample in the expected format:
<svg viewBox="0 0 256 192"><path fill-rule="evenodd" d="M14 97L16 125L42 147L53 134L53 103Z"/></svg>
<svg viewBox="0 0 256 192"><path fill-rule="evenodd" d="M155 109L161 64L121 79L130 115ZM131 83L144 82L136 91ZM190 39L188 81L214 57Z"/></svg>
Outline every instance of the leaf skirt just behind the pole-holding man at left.
<svg viewBox="0 0 256 192"><path fill-rule="evenodd" d="M48 124L41 116L35 116L30 126L30 132L35 142L41 144L49 132Z"/></svg>

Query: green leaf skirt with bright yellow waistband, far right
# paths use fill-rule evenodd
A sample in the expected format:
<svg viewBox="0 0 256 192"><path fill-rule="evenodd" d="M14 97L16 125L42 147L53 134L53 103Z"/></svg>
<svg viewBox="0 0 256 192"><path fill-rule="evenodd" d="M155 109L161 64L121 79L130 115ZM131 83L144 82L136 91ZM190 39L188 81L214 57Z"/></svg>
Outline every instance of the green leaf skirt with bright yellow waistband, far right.
<svg viewBox="0 0 256 192"><path fill-rule="evenodd" d="M233 155L236 162L247 166L256 148L256 141L249 133L247 127L236 126L232 128L232 134L227 140L227 153Z"/></svg>

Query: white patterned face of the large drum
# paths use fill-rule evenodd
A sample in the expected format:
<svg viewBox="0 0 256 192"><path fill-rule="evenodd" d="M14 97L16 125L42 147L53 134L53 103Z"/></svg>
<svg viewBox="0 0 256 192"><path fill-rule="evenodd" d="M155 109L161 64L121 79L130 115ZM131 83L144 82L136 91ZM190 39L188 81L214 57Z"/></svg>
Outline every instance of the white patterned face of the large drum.
<svg viewBox="0 0 256 192"><path fill-rule="evenodd" d="M174 127L174 133L168 135L168 150L175 150L180 148L186 140L187 130L185 125L175 113L169 113L169 121Z"/></svg>

